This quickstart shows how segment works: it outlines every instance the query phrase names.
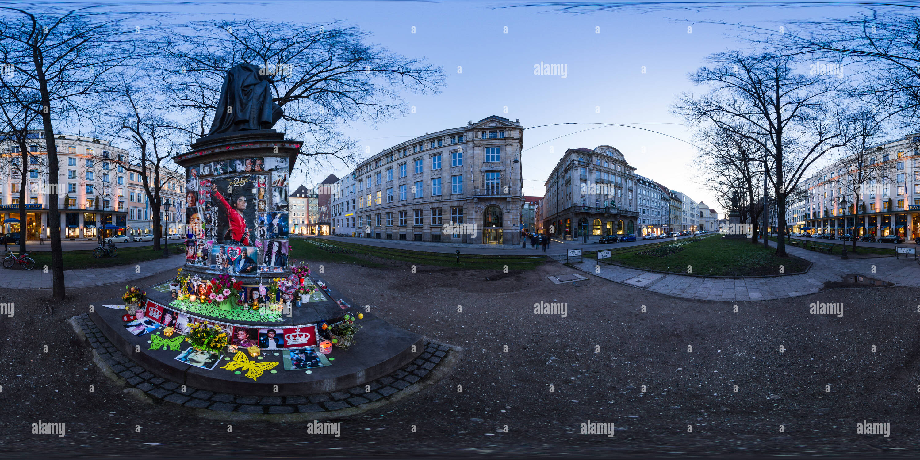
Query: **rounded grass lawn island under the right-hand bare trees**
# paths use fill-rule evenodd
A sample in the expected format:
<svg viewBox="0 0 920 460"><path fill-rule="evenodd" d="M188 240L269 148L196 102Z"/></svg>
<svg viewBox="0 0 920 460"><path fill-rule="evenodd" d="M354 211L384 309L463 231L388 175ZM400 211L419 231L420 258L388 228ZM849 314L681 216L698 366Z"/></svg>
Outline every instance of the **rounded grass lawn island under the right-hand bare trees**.
<svg viewBox="0 0 920 460"><path fill-rule="evenodd" d="M680 245L680 246L677 246ZM645 252L645 254L643 254ZM776 248L765 249L750 240L721 239L719 235L678 240L668 245L636 247L613 254L613 259L627 267L644 270L672 271L703 276L762 276L804 271L808 262L779 258Z"/></svg>

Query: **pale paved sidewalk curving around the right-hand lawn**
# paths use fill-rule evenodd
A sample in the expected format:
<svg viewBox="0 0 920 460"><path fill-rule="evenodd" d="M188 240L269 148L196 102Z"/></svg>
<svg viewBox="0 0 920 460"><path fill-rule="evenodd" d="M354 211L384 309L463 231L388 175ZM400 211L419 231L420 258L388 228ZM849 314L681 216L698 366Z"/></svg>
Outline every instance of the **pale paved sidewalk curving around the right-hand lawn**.
<svg viewBox="0 0 920 460"><path fill-rule="evenodd" d="M776 243L770 242L771 247ZM814 262L805 274L779 276L774 278L698 278L694 276L670 275L651 271L627 269L615 265L601 264L601 272L595 273L596 260L586 259L572 264L578 270L600 276L612 282L646 289L655 293L683 297L685 299L718 300L728 302L770 300L817 293L825 282L840 282L843 276L857 273L893 282L901 286L920 286L920 265L913 259L840 259L839 255L822 254L800 247L786 247L788 254ZM872 271L873 266L875 272Z"/></svg>

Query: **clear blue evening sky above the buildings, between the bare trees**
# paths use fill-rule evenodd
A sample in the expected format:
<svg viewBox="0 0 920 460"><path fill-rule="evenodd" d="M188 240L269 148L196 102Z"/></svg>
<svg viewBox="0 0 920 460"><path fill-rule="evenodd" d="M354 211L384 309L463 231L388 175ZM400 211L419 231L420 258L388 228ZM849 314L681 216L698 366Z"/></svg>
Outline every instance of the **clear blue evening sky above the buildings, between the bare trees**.
<svg viewBox="0 0 920 460"><path fill-rule="evenodd" d="M134 4L146 9L143 5ZM695 89L686 75L702 65L707 54L743 46L730 37L731 29L707 21L722 19L778 29L789 19L842 17L857 12L854 7L833 4L588 14L559 13L548 6L496 7L514 5L520 3L278 1L156 7L188 13L185 17L189 19L205 15L288 22L341 19L371 32L369 40L392 52L442 65L448 75L442 93L406 96L415 113L376 127L358 124L345 130L369 146L372 153L425 132L463 126L466 121L493 114L520 119L524 127L570 121L640 123L635 126L691 141L692 132L670 112L678 94ZM692 27L691 33L688 27ZM534 64L541 62L566 64L567 77L534 75ZM712 193L695 180L691 145L625 127L580 132L596 126L526 130L524 194L544 194L546 177L567 148L609 144L626 155L638 174L716 207ZM573 132L578 133L541 144ZM309 186L329 173L341 176L348 170L344 166L317 170L308 178L293 178L292 185Z"/></svg>

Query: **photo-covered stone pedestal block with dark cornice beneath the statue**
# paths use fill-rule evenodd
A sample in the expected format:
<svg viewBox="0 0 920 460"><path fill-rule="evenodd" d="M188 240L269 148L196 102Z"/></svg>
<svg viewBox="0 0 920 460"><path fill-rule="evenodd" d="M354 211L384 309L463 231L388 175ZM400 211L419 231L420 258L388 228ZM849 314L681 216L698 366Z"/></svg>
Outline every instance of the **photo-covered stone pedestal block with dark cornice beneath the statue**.
<svg viewBox="0 0 920 460"><path fill-rule="evenodd" d="M186 169L183 271L247 285L290 273L288 181L300 147L275 130L233 132L202 137L173 158Z"/></svg>

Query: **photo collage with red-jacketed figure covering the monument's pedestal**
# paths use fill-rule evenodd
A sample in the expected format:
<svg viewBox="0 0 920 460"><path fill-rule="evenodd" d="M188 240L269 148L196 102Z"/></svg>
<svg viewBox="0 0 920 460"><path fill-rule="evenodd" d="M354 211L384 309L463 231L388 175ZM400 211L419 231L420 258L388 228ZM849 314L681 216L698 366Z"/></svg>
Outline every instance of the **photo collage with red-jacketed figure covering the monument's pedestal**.
<svg viewBox="0 0 920 460"><path fill-rule="evenodd" d="M186 174L187 264L230 275L287 270L288 158L214 161Z"/></svg>

